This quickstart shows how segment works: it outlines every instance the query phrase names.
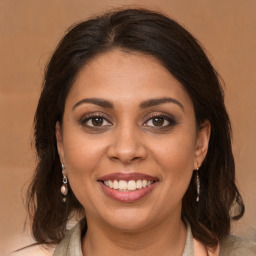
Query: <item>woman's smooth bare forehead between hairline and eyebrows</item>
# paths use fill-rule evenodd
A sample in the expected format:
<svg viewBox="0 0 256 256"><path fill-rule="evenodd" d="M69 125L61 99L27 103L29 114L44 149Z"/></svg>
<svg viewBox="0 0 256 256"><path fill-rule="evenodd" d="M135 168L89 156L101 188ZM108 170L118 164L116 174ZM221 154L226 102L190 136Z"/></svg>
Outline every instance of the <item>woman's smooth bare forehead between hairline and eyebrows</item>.
<svg viewBox="0 0 256 256"><path fill-rule="evenodd" d="M87 63L79 72L67 103L92 97L123 105L159 97L173 97L183 104L192 104L183 85L157 59L121 50L97 55Z"/></svg>

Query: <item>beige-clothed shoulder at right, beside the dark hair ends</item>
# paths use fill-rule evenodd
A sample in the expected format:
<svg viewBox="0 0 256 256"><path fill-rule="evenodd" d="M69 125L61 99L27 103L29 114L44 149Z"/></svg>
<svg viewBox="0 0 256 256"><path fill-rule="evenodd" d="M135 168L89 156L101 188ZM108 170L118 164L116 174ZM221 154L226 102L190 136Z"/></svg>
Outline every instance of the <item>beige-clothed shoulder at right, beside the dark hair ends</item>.
<svg viewBox="0 0 256 256"><path fill-rule="evenodd" d="M256 242L229 235L220 243L220 256L256 256Z"/></svg>

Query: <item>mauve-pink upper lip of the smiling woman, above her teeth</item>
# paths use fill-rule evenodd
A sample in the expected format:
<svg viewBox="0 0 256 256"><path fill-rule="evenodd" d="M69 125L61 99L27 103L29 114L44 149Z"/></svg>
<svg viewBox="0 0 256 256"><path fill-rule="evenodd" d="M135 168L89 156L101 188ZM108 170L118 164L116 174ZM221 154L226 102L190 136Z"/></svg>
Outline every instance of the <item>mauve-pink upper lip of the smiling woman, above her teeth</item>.
<svg viewBox="0 0 256 256"><path fill-rule="evenodd" d="M147 181L158 181L157 177L153 177L147 174L138 173L138 172L131 172L131 173L123 173L123 172L116 172L104 175L98 179L98 181L105 181L105 180L147 180Z"/></svg>

